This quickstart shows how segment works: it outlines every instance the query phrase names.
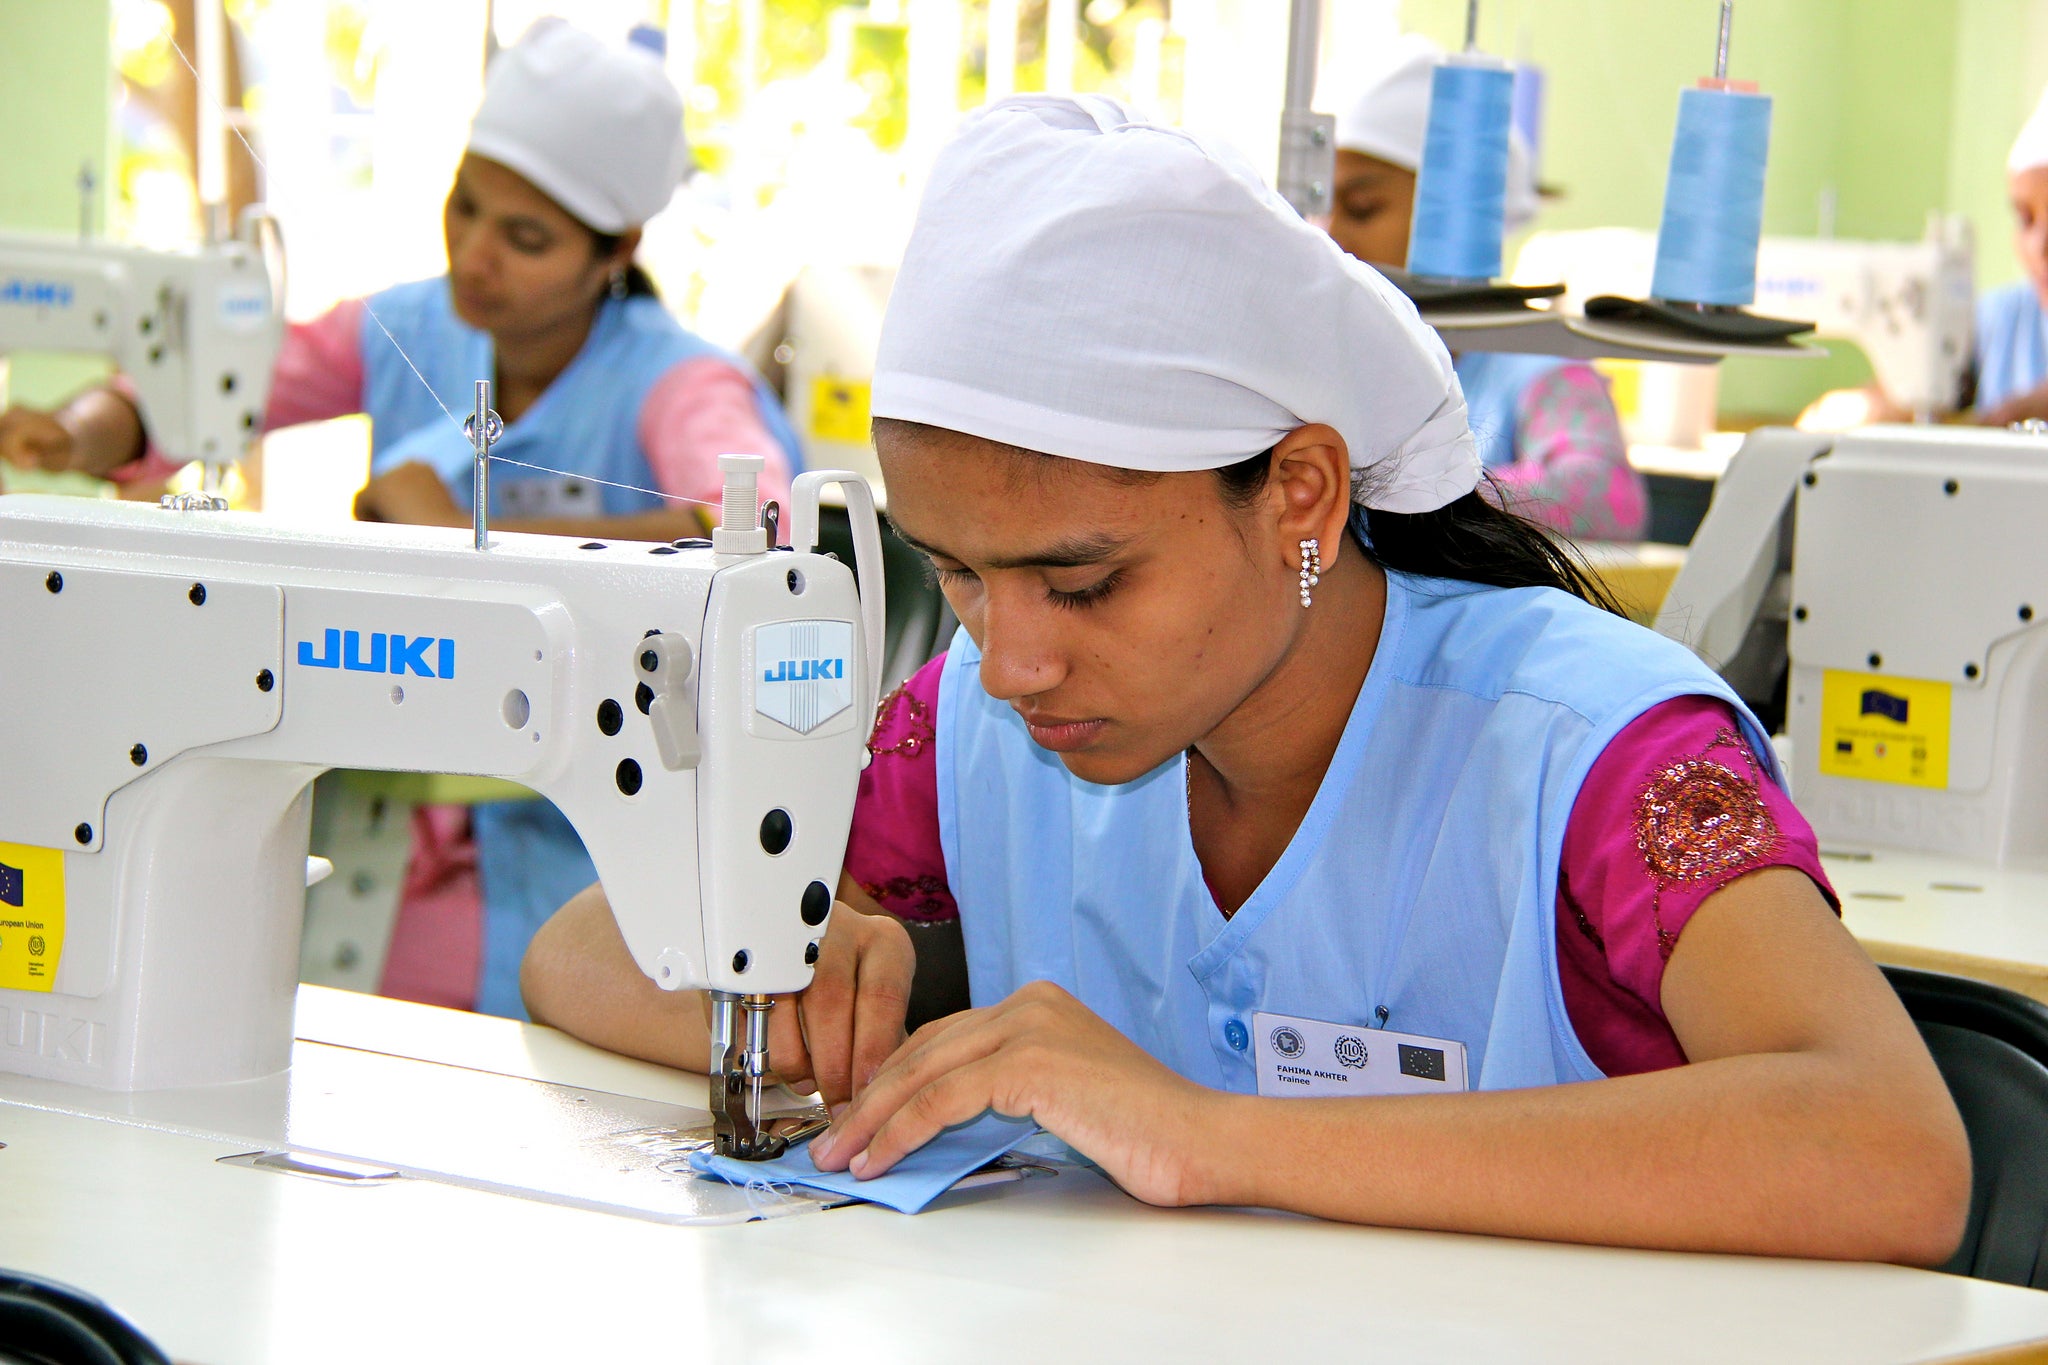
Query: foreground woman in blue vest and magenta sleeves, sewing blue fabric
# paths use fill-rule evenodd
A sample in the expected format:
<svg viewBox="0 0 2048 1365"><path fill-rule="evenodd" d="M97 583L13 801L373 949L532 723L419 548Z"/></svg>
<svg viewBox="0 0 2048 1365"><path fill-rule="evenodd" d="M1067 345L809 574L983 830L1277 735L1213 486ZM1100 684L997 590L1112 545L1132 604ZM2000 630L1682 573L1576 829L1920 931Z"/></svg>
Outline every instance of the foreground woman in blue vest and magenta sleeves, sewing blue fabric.
<svg viewBox="0 0 2048 1365"><path fill-rule="evenodd" d="M1952 1250L1962 1126L1767 739L1479 493L1436 334L1241 160L1100 98L971 119L874 411L963 630L854 817L856 849L901 827L924 774L936 853L850 853L772 1015L836 1107L819 1166L993 1109L1163 1205ZM907 1042L895 894L956 905L973 1005ZM545 1021L705 1064L600 888L524 976Z"/></svg>

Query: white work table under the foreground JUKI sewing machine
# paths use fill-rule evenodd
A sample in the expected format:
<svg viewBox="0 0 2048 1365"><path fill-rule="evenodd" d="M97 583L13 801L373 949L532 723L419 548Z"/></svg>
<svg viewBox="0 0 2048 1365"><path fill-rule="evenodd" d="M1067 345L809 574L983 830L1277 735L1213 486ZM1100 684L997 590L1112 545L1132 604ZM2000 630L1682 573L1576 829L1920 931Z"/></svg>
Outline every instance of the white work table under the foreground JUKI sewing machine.
<svg viewBox="0 0 2048 1365"><path fill-rule="evenodd" d="M340 1074L317 1062L328 1052L369 1066L371 1087L381 1050L436 1064L451 1093L575 1085L578 1103L602 1107L621 1091L692 1103L702 1087L549 1029L313 986L299 1019L305 1093L293 1103L397 1107L313 1095L313 1076ZM954 1193L918 1218L840 1207L674 1226L436 1179L338 1185L219 1164L250 1144L166 1132L147 1101L78 1105L123 1117L63 1111L80 1099L0 1078L0 1265L111 1300L195 1365L1255 1361L1276 1349L1927 1361L2011 1359L2001 1349L2048 1338L2048 1293L1925 1271L1149 1209L1083 1171Z"/></svg>

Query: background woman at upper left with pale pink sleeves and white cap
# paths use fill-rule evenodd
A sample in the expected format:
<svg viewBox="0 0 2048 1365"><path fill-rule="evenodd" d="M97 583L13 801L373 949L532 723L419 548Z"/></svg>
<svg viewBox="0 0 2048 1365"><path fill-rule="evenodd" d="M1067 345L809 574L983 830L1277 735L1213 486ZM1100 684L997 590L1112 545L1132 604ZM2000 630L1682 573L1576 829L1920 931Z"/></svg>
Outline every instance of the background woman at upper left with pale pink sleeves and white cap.
<svg viewBox="0 0 2048 1365"><path fill-rule="evenodd" d="M469 526L473 452L459 415L475 381L492 379L506 422L496 452L518 460L492 473L500 530L702 534L698 503L717 503L725 452L764 456L762 493L786 503L799 454L774 395L686 332L633 262L688 158L682 98L653 53L541 20L492 63L442 213L449 272L293 325L264 426L369 413L356 516ZM57 413L8 413L0 456L117 479L174 469L147 452L119 389ZM545 800L479 804L473 835L471 849L457 810L416 819L385 990L520 1015L528 937L596 872ZM440 921L477 915L463 892L471 860L481 933L449 933Z"/></svg>

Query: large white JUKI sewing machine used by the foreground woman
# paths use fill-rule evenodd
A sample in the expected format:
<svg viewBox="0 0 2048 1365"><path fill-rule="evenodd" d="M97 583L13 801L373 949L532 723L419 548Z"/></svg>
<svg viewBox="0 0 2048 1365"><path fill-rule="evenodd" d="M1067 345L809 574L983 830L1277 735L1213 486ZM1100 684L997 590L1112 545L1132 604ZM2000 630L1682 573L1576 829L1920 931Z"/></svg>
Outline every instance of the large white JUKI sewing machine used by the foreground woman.
<svg viewBox="0 0 2048 1365"><path fill-rule="evenodd" d="M770 553L760 458L721 465L725 526L680 546L0 499L0 1070L279 1072L307 784L498 776L575 825L641 970L713 990L719 1142L772 1154L768 997L811 980L883 649L821 487L868 583L881 540L821 471Z"/></svg>

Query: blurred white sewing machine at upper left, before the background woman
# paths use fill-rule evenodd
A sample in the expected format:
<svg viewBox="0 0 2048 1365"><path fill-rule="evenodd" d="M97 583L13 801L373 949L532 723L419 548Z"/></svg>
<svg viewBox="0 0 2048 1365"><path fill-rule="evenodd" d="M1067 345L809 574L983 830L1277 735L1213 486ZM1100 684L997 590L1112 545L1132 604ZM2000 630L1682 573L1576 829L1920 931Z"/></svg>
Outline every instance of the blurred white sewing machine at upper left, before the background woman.
<svg viewBox="0 0 2048 1365"><path fill-rule="evenodd" d="M233 465L262 426L285 332L266 227L252 209L236 239L190 252L0 233L0 354L106 356L164 452Z"/></svg>

